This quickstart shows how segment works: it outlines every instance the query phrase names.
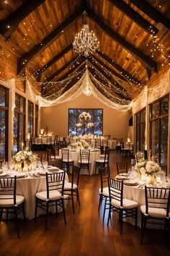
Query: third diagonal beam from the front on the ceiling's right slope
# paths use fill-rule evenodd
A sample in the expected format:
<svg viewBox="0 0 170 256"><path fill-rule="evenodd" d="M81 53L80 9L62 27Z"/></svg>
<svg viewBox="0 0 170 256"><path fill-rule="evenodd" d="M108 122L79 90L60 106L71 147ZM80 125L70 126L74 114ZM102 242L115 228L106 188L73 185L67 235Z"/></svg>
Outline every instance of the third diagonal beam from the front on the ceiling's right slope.
<svg viewBox="0 0 170 256"><path fill-rule="evenodd" d="M117 69L117 71L119 71L122 74L122 76L125 77L126 80L128 80L130 82L134 82L136 85L138 85L140 83L140 81L138 79L133 77L125 69L122 69L122 67L120 67L119 64L117 64L115 61L112 61L112 59L109 59L109 57L106 54L102 53L101 51L96 51L96 53L99 54L99 56L101 56L102 59L104 59L104 61L107 61L112 67Z"/></svg>

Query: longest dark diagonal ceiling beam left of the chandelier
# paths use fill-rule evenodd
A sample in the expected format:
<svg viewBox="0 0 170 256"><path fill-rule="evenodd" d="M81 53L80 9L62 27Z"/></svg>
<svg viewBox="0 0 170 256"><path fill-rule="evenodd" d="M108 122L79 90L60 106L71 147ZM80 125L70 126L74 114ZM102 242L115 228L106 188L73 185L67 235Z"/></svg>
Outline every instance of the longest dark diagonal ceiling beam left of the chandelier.
<svg viewBox="0 0 170 256"><path fill-rule="evenodd" d="M84 9L79 9L79 11L72 14L71 17L68 17L67 20L56 27L52 33L47 35L40 43L38 43L37 46L33 47L27 54L24 54L21 58L19 58L17 67L18 74L24 70L25 66L30 63L32 59L34 59L38 54L50 46L50 44L53 43L60 35L62 35L64 30L71 26L73 22L76 22L76 20L81 17L83 10Z"/></svg>

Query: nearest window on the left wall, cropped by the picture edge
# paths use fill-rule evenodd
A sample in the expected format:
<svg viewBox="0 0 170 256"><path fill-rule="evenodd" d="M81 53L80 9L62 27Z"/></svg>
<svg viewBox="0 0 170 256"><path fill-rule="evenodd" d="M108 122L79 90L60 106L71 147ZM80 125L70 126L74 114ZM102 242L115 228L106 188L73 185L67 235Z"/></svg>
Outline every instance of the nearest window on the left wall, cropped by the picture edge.
<svg viewBox="0 0 170 256"><path fill-rule="evenodd" d="M0 85L0 153L8 159L9 90Z"/></svg>

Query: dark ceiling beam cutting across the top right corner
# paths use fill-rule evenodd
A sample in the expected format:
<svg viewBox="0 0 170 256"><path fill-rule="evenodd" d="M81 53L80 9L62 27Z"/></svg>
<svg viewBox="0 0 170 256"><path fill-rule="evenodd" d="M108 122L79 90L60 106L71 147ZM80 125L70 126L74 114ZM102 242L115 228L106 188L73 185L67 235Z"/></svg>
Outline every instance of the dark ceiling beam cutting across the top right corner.
<svg viewBox="0 0 170 256"><path fill-rule="evenodd" d="M130 0L135 7L138 7L143 13L147 14L152 20L157 23L163 24L170 29L170 20L161 12L158 11L153 5L149 4L146 0Z"/></svg>

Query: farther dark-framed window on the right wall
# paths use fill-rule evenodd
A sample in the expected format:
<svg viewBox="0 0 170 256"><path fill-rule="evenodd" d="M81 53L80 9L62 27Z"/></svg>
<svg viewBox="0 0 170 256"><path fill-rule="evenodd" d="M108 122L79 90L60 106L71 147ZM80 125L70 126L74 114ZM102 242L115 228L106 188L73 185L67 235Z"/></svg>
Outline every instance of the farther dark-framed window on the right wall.
<svg viewBox="0 0 170 256"><path fill-rule="evenodd" d="M145 150L146 108L136 114L136 152Z"/></svg>

